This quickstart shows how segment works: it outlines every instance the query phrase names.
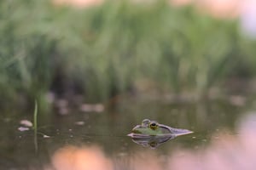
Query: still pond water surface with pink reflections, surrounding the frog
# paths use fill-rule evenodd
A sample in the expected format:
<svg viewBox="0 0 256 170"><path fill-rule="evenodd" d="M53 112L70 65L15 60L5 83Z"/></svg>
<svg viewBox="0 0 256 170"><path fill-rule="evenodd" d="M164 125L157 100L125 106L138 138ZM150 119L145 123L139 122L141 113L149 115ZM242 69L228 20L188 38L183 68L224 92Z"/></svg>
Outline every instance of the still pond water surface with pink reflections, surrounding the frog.
<svg viewBox="0 0 256 170"><path fill-rule="evenodd" d="M230 100L130 100L114 110L67 115L39 110L37 138L31 127L19 130L20 120L32 122L32 113L15 111L1 117L0 169L253 169L256 118L249 111L252 105ZM127 134L145 118L195 133L144 147Z"/></svg>

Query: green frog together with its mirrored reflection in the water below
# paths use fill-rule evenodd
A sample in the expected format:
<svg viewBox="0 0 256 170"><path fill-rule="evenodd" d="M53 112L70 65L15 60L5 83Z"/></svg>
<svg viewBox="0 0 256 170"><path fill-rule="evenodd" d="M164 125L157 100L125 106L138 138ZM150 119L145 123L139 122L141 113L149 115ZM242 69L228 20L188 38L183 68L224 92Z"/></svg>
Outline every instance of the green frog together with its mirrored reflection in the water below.
<svg viewBox="0 0 256 170"><path fill-rule="evenodd" d="M128 134L128 136L131 136L132 141L137 144L156 148L170 139L189 133L193 132L187 129L168 127L156 121L144 119L142 124L134 127L132 133Z"/></svg>

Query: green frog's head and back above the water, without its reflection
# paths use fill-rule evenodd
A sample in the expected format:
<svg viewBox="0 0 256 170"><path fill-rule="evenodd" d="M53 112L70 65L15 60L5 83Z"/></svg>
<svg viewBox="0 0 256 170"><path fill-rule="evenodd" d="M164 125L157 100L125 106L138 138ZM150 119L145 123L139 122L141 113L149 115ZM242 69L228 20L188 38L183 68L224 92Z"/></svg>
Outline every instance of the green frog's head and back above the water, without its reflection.
<svg viewBox="0 0 256 170"><path fill-rule="evenodd" d="M187 129L168 127L166 125L160 124L156 121L151 121L149 119L144 119L140 125L132 128L132 133L129 134L131 137L145 138L148 136L179 136L184 134L193 133Z"/></svg>

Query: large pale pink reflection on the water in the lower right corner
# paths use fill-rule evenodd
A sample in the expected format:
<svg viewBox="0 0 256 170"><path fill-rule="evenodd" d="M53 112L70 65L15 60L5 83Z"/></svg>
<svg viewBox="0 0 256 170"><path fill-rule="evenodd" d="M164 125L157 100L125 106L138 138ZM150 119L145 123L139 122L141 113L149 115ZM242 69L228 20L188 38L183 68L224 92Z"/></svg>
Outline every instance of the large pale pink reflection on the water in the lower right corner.
<svg viewBox="0 0 256 170"><path fill-rule="evenodd" d="M205 150L177 150L168 160L173 170L253 170L256 167L256 116L241 123L238 134L218 133Z"/></svg>

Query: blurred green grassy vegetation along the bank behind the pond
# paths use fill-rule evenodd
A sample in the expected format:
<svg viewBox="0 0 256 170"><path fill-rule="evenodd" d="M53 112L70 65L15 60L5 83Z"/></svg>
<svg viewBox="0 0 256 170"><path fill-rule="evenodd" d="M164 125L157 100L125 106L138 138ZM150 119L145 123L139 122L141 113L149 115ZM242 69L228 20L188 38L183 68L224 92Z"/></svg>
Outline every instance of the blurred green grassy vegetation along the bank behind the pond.
<svg viewBox="0 0 256 170"><path fill-rule="evenodd" d="M237 20L216 20L165 1L107 1L72 8L0 2L0 105L44 102L47 92L102 102L149 80L172 94L206 94L256 73L255 42Z"/></svg>

